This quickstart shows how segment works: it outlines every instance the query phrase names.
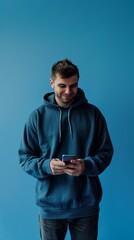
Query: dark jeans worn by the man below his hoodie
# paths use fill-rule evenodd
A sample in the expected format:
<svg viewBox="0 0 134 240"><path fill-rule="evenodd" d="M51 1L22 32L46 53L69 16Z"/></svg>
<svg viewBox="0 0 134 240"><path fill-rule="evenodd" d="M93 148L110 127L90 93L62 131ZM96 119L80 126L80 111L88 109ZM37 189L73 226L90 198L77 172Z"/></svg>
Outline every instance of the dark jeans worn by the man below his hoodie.
<svg viewBox="0 0 134 240"><path fill-rule="evenodd" d="M71 240L97 240L98 215L76 219L43 219L40 221L41 240L64 240L69 228Z"/></svg>

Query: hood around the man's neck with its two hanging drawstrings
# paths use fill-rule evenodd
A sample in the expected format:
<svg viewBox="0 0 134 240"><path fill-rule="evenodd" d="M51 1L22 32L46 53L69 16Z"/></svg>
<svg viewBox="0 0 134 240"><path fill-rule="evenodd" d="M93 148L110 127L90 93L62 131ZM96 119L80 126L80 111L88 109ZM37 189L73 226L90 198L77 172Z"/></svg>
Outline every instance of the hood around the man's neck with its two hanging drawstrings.
<svg viewBox="0 0 134 240"><path fill-rule="evenodd" d="M64 114L64 110L68 109L68 125L69 125L69 130L70 130L70 135L73 138L73 129L72 129L72 124L71 124L71 111L73 108L80 107L83 104L87 103L87 99L85 97L85 94L82 89L78 88L77 94L75 96L75 99L73 103L70 106L67 107L62 107L59 106L56 101L55 101L55 93L50 92L44 95L44 104L47 107L50 108L55 108L59 111L59 142L61 141L62 137L62 117Z"/></svg>

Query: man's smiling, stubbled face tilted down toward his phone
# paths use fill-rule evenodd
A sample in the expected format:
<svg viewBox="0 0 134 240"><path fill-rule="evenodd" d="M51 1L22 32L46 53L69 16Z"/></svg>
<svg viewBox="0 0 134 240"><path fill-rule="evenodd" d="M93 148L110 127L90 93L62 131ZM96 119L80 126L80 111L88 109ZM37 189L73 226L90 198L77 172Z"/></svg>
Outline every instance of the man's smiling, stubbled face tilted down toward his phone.
<svg viewBox="0 0 134 240"><path fill-rule="evenodd" d="M57 74L54 80L50 79L50 84L54 89L57 104L63 107L71 105L78 91L78 76L62 78Z"/></svg>

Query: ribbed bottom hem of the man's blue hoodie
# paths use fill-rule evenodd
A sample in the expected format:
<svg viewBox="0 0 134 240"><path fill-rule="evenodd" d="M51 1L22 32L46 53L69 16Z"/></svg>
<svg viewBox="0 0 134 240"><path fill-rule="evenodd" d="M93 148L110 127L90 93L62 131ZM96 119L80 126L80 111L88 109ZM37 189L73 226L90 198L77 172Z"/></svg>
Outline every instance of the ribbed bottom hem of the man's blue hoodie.
<svg viewBox="0 0 134 240"><path fill-rule="evenodd" d="M78 209L43 209L39 208L39 214L46 219L73 219L81 217L89 217L99 213L99 206L92 208Z"/></svg>

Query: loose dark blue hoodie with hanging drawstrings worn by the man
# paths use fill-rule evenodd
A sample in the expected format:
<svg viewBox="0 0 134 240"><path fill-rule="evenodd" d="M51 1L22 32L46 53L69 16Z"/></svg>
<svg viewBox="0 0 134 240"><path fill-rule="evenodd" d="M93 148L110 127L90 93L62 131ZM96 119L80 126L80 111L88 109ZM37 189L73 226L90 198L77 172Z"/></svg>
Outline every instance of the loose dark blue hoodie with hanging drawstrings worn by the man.
<svg viewBox="0 0 134 240"><path fill-rule="evenodd" d="M81 176L53 175L52 158L73 154L84 160ZM60 107L54 93L33 111L19 149L20 165L37 179L36 202L47 219L71 219L98 213L102 188L98 175L110 164L113 146L106 121L78 89L71 107Z"/></svg>

